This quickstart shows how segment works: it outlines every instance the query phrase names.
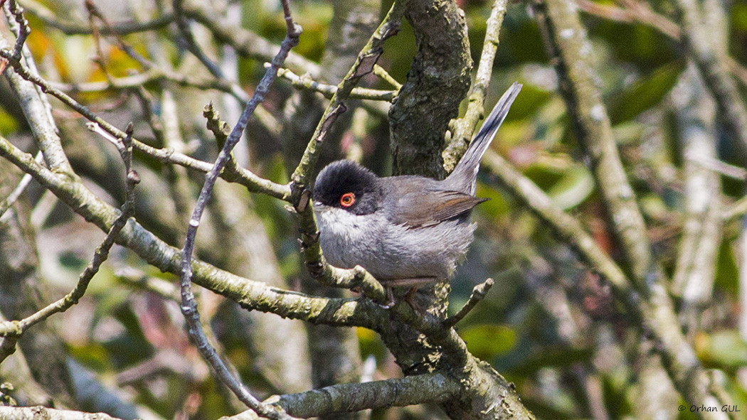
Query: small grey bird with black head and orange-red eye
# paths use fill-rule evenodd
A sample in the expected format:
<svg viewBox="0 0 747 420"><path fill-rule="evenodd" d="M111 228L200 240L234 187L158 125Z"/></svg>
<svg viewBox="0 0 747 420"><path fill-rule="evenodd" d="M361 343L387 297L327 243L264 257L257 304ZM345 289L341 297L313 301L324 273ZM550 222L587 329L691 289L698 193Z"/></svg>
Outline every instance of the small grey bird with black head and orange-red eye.
<svg viewBox="0 0 747 420"><path fill-rule="evenodd" d="M387 288L418 286L453 275L474 239L473 207L480 160L521 90L514 83L495 105L462 160L443 181L417 175L379 178L351 160L329 163L314 185L314 213L326 260L364 267Z"/></svg>

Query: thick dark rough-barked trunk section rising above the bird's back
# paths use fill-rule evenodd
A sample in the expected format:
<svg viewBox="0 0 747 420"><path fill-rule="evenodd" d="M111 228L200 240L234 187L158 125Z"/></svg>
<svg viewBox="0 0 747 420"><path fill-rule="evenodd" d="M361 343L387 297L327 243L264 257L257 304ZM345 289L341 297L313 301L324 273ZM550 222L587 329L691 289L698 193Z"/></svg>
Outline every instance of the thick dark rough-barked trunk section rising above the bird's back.
<svg viewBox="0 0 747 420"><path fill-rule="evenodd" d="M470 84L464 11L453 0L411 0L406 14L418 54L389 110L394 175L444 178L444 133Z"/></svg>

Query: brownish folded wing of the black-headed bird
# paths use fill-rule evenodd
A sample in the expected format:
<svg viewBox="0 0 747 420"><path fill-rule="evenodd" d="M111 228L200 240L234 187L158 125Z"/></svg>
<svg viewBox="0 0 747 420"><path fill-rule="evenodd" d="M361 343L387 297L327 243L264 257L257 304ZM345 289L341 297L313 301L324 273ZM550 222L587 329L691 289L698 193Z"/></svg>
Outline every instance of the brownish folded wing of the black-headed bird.
<svg viewBox="0 0 747 420"><path fill-rule="evenodd" d="M462 216L486 200L487 198L476 198L464 192L443 189L410 191L394 201L389 221L408 228L425 228Z"/></svg>

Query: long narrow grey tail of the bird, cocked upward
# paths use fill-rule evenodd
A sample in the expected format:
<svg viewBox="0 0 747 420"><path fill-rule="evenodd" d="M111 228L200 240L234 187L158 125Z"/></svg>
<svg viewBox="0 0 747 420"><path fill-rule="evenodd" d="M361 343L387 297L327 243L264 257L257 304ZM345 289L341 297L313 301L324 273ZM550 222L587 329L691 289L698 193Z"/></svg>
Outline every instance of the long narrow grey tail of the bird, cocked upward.
<svg viewBox="0 0 747 420"><path fill-rule="evenodd" d="M462 156L462 160L459 160L456 168L454 168L451 175L445 180L449 184L452 184L454 188L474 195L477 169L480 169L480 160L483 159L483 154L488 150L490 142L493 141L498 128L503 123L503 119L506 119L511 104L513 104L520 90L521 84L514 82L506 90L506 93L503 93L503 96L500 97L498 104L495 104L490 115L485 119L483 127L480 128L480 132L472 139L469 148L464 156Z"/></svg>

